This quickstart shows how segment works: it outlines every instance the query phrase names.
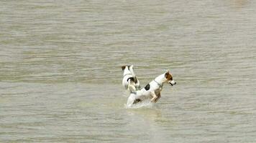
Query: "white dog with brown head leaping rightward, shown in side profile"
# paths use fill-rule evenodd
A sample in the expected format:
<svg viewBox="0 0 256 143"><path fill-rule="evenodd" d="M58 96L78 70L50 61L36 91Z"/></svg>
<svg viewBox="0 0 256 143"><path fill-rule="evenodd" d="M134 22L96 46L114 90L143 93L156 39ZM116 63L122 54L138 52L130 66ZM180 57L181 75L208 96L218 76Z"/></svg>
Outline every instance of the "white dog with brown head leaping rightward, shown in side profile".
<svg viewBox="0 0 256 143"><path fill-rule="evenodd" d="M151 99L151 102L157 102L161 97L160 92L162 91L163 84L165 83L169 83L171 86L176 84L173 80L173 76L170 74L170 71L156 77L152 82L147 84L145 88L132 92L127 100L127 107L132 107L133 104L142 102L145 99Z"/></svg>

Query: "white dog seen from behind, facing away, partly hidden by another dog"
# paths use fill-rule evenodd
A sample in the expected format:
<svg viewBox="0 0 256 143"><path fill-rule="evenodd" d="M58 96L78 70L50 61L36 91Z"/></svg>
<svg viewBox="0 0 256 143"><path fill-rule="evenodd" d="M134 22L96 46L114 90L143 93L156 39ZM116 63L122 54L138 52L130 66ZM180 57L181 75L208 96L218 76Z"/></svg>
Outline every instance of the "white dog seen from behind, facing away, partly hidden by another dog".
<svg viewBox="0 0 256 143"><path fill-rule="evenodd" d="M140 81L137 79L133 71L133 65L131 66L122 66L124 71L123 76L123 87L129 91L129 93L136 92L140 89Z"/></svg>

